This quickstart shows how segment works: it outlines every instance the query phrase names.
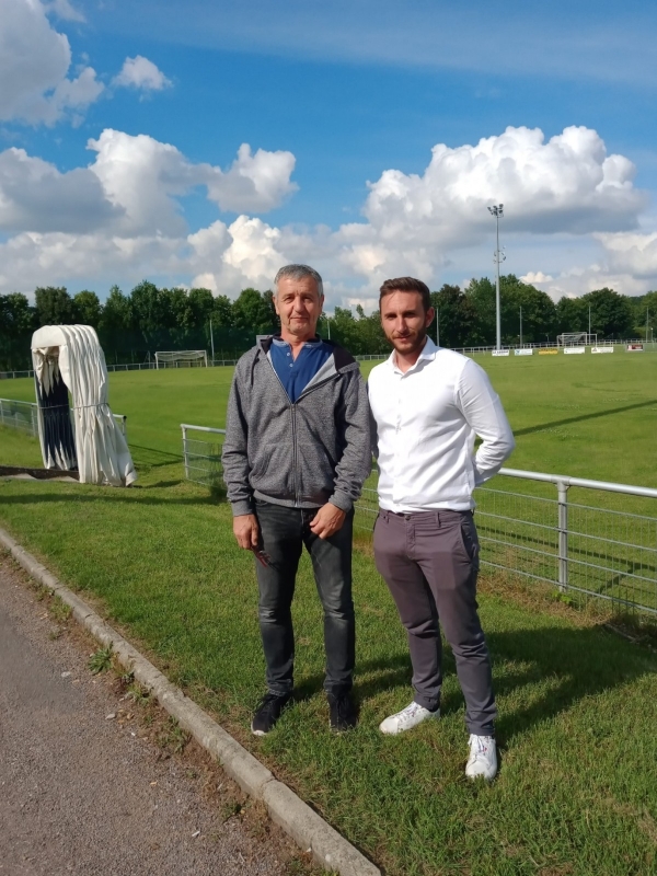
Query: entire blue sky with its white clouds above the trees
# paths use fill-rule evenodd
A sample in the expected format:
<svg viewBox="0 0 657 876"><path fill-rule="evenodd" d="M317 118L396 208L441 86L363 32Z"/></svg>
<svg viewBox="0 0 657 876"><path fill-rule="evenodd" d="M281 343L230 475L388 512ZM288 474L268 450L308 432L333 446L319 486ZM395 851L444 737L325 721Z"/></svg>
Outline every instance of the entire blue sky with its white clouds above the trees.
<svg viewBox="0 0 657 876"><path fill-rule="evenodd" d="M0 293L234 296L308 261L368 306L391 275L491 274L496 201L505 268L553 297L657 288L647 3L0 9L33 58L0 50Z"/></svg>

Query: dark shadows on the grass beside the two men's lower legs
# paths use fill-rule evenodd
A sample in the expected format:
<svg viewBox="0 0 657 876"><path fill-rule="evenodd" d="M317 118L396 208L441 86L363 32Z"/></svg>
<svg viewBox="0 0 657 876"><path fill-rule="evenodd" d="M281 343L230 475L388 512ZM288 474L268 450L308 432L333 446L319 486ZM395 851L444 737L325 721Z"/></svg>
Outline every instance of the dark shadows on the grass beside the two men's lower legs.
<svg viewBox="0 0 657 876"><path fill-rule="evenodd" d="M496 724L502 741L527 733L585 698L657 672L657 657L623 642L602 626L493 632L486 638L493 655L495 693L503 703L508 701ZM446 676L456 672L449 648L445 648L442 664ZM496 666L503 665L504 669L497 672ZM514 671L514 665L522 668ZM397 688L408 694L401 698L404 705L413 695L407 653L357 661L356 670L354 692L360 702ZM371 677L358 681L358 676ZM319 675L303 679L296 695L298 699L315 695L322 690L323 681L323 676ZM443 695L440 705L443 716L463 708L460 691Z"/></svg>

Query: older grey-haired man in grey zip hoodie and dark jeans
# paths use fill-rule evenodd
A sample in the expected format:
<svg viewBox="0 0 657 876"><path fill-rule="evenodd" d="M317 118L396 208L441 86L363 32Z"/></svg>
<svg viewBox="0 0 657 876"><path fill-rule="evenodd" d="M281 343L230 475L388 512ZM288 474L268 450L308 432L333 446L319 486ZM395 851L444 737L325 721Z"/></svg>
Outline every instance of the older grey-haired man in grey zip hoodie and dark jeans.
<svg viewBox="0 0 657 876"><path fill-rule="evenodd" d="M322 278L287 265L274 280L280 334L241 357L228 403L223 472L240 548L256 554L267 692L251 729L269 733L293 688L290 607L303 545L324 608L330 725L356 724L351 599L354 503L371 471L367 391L358 364L315 334Z"/></svg>

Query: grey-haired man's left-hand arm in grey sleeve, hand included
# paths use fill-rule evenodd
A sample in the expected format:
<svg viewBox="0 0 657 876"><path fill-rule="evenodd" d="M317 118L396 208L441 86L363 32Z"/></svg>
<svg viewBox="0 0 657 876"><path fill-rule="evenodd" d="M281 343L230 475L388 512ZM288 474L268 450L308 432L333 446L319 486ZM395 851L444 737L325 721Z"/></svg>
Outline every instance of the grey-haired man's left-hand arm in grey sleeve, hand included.
<svg viewBox="0 0 657 876"><path fill-rule="evenodd" d="M249 483L251 468L247 456L249 425L240 394L239 373L235 369L226 417L226 437L221 452L223 480L233 512L233 533L240 548L255 548L260 530L253 514L253 491Z"/></svg>

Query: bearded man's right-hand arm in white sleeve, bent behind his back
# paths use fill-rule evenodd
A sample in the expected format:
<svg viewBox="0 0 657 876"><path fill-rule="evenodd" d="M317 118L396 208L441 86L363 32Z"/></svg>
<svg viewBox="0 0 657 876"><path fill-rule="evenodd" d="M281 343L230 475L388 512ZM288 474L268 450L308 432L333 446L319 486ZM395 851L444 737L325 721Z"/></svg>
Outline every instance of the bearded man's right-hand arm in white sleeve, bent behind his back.
<svg viewBox="0 0 657 876"><path fill-rule="evenodd" d="M484 369L472 360L461 372L457 396L465 420L482 439L473 460L474 483L479 486L497 474L516 441L499 395Z"/></svg>

